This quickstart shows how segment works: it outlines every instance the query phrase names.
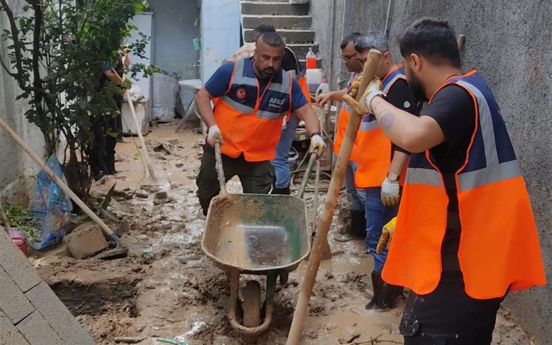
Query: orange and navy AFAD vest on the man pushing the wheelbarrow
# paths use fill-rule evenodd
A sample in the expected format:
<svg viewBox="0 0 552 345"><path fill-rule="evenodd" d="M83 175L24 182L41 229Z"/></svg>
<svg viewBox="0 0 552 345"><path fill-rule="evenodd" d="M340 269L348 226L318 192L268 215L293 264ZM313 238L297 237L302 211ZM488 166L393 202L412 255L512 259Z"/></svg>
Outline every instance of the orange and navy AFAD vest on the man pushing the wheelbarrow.
<svg viewBox="0 0 552 345"><path fill-rule="evenodd" d="M291 109L292 82L289 73L280 68L259 94L253 60L235 61L228 91L214 110L225 141L221 152L233 158L243 153L248 162L274 158L282 117Z"/></svg>

